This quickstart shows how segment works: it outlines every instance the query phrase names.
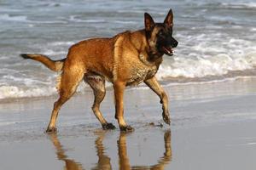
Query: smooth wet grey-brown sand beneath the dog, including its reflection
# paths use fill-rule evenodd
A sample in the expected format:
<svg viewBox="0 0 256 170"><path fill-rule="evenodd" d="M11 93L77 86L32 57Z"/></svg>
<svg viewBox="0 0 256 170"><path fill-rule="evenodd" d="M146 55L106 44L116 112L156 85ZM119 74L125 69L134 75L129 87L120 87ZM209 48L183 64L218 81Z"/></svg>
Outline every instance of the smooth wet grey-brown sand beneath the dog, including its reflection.
<svg viewBox="0 0 256 170"><path fill-rule="evenodd" d="M125 120L133 133L102 131L90 111L92 92L61 109L58 133L44 133L55 97L0 104L0 169L254 169L256 81L165 87L171 127L148 88L125 91ZM114 120L113 91L102 112ZM163 126L161 126L163 124ZM64 168L65 169L65 168Z"/></svg>

